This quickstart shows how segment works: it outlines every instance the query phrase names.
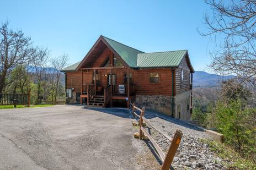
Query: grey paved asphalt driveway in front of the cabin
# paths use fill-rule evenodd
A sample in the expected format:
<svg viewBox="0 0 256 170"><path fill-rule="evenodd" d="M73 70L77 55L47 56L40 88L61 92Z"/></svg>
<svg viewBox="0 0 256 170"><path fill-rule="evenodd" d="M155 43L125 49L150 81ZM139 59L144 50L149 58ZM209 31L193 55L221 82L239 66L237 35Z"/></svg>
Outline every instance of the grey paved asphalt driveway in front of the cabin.
<svg viewBox="0 0 256 170"><path fill-rule="evenodd" d="M124 109L0 110L0 169L137 169L132 134Z"/></svg>

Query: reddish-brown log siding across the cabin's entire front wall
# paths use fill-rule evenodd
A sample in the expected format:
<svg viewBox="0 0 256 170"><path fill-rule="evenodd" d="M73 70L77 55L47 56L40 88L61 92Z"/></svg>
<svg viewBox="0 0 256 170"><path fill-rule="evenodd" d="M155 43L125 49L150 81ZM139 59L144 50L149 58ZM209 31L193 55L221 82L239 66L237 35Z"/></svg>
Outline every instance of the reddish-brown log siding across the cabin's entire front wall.
<svg viewBox="0 0 256 170"><path fill-rule="evenodd" d="M110 70L97 70L100 74L100 85L104 88L108 85ZM171 69L144 69L130 70L132 83L136 85L138 95L167 95L172 96L172 70ZM159 83L150 83L150 73L159 74ZM81 72L67 72L67 89L74 88L73 92L81 91ZM127 69L113 69L116 84L124 84L124 74ZM175 77L175 76L174 76ZM83 84L93 83L93 70L83 71Z"/></svg>

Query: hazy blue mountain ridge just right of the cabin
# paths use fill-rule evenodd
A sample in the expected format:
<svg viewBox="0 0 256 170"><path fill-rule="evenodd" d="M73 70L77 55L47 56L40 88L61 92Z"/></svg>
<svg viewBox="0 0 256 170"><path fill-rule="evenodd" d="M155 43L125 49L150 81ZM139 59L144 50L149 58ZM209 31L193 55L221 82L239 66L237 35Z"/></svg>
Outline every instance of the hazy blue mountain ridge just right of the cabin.
<svg viewBox="0 0 256 170"><path fill-rule="evenodd" d="M203 71L195 71L193 74L193 87L215 87L218 86L221 81L233 79L234 75L217 75L210 74Z"/></svg>

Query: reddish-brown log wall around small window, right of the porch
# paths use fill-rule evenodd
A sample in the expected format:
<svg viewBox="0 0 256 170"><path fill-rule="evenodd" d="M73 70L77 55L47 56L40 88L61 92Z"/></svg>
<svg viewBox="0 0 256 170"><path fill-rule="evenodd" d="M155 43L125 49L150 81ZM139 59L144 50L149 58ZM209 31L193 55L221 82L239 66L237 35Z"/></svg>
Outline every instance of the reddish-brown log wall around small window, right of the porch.
<svg viewBox="0 0 256 170"><path fill-rule="evenodd" d="M159 74L159 83L150 83L150 73ZM170 68L133 70L133 80L136 84L137 95L172 96L172 70Z"/></svg>

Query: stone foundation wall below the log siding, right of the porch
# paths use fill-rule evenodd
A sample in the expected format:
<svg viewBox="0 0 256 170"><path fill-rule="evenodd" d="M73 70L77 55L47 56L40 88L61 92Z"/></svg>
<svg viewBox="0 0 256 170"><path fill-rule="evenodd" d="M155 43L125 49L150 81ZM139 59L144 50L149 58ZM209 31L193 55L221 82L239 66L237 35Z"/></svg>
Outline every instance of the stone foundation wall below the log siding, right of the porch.
<svg viewBox="0 0 256 170"><path fill-rule="evenodd" d="M136 105L157 112L172 115L172 96L136 95Z"/></svg>

